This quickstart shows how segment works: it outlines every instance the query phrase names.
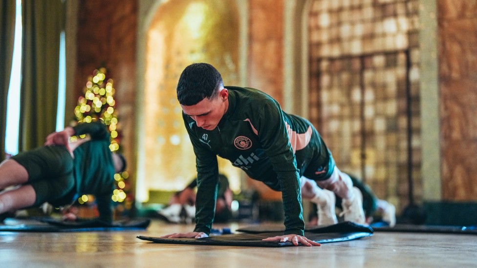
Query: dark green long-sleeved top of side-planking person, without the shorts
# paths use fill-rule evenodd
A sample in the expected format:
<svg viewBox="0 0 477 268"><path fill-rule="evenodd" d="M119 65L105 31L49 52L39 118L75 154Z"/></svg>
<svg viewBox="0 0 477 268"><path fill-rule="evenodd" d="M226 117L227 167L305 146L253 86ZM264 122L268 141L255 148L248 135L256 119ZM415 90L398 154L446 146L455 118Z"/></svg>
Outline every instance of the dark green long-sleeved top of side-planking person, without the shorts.
<svg viewBox="0 0 477 268"><path fill-rule="evenodd" d="M111 194L114 190L114 163L109 149L110 135L101 122L77 124L75 135L89 134L91 140L74 151L76 192L93 194L102 220L112 220Z"/></svg>

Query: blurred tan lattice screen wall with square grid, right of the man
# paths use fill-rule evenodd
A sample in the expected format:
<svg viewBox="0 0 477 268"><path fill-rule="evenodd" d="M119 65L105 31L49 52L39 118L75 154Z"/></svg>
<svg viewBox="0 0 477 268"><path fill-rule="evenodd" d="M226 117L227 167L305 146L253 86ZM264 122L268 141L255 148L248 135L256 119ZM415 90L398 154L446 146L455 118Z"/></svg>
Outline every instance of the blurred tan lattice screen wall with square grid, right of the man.
<svg viewBox="0 0 477 268"><path fill-rule="evenodd" d="M310 120L341 170L377 196L422 197L417 0L315 0ZM409 172L411 170L411 172Z"/></svg>

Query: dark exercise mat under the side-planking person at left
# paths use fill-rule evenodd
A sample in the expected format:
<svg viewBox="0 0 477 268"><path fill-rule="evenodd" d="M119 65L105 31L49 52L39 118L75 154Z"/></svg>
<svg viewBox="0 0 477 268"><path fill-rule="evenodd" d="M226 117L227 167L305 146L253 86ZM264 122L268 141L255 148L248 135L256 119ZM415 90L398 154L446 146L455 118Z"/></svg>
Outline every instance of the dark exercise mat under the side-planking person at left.
<svg viewBox="0 0 477 268"><path fill-rule="evenodd" d="M0 225L0 231L23 232L84 232L84 231L124 231L144 230L150 219L116 221L112 224L100 220L63 222L54 218L7 219Z"/></svg>

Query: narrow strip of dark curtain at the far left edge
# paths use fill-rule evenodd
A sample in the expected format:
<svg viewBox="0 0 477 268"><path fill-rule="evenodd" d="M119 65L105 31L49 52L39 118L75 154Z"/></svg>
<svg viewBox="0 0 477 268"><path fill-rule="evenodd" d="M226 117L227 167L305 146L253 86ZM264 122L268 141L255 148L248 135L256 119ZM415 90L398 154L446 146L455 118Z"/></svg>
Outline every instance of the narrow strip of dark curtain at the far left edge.
<svg viewBox="0 0 477 268"><path fill-rule="evenodd" d="M5 159L5 127L8 86L15 39L16 0L0 0L0 161Z"/></svg>

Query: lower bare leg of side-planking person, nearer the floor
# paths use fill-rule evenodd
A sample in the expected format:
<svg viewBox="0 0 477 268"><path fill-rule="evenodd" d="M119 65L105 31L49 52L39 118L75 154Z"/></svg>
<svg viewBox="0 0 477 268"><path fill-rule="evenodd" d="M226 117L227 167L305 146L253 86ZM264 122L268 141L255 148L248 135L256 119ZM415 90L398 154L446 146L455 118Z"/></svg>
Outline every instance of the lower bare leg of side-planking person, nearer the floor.
<svg viewBox="0 0 477 268"><path fill-rule="evenodd" d="M0 194L0 214L33 206L37 195L31 185L24 185Z"/></svg>

